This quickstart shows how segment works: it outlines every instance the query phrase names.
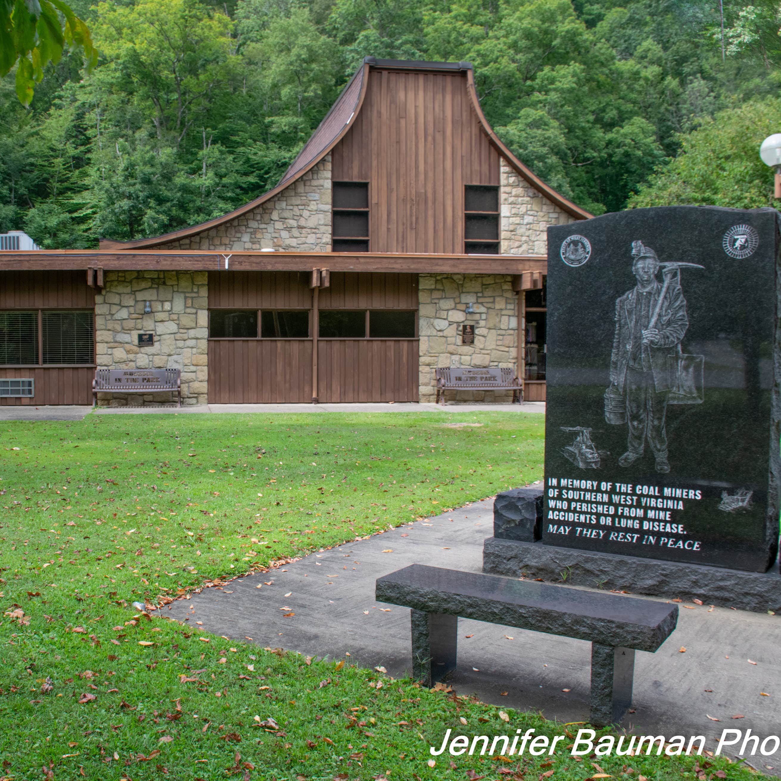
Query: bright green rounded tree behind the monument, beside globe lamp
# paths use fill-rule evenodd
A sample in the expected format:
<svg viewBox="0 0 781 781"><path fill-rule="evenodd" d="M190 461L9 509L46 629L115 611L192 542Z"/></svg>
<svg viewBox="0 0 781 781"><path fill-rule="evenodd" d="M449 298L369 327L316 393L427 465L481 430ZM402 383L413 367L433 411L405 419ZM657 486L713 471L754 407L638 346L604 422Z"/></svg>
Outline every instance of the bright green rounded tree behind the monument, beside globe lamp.
<svg viewBox="0 0 781 781"><path fill-rule="evenodd" d="M668 166L629 199L630 206L670 204L755 209L772 206L772 171L759 144L781 127L781 100L765 98L718 112L681 138Z"/></svg>

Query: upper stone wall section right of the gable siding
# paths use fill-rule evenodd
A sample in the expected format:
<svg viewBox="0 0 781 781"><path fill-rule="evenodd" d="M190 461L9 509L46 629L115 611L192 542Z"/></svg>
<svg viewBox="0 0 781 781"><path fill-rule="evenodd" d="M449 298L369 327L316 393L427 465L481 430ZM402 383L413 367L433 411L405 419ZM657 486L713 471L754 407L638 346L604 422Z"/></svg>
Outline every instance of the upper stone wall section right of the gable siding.
<svg viewBox="0 0 781 781"><path fill-rule="evenodd" d="M547 226L574 217L559 209L501 159L500 237L503 255L547 255Z"/></svg>

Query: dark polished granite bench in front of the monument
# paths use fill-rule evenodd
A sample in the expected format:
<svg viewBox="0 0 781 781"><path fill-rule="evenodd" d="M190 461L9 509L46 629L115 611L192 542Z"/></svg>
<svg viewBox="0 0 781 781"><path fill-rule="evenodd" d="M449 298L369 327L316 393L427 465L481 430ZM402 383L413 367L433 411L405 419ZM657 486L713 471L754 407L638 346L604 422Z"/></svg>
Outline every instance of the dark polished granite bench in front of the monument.
<svg viewBox="0 0 781 781"><path fill-rule="evenodd" d="M458 616L589 640L594 726L622 718L635 651L656 651L678 621L674 604L420 564L379 578L376 599L412 608L412 676L426 686L455 669Z"/></svg>

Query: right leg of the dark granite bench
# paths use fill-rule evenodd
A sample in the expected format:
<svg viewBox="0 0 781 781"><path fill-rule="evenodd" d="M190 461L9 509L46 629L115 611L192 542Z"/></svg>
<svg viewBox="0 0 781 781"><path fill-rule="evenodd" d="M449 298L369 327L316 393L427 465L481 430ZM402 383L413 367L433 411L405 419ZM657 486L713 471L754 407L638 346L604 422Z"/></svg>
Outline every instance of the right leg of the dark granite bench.
<svg viewBox="0 0 781 781"><path fill-rule="evenodd" d="M632 704L634 650L591 644L591 716L594 726L615 724Z"/></svg>

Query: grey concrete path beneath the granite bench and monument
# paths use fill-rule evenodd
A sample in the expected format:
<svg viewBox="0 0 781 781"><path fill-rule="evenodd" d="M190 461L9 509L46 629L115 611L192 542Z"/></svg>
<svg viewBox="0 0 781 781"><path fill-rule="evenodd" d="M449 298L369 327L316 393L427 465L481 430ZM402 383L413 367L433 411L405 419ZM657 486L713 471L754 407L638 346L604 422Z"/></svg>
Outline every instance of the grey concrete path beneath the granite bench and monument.
<svg viewBox="0 0 781 781"><path fill-rule="evenodd" d="M201 621L209 632L251 638L261 646L343 659L349 653L350 662L383 665L391 676L404 676L411 670L409 610L374 601L375 580L412 563L480 572L492 505L490 499L476 502L206 589L174 602L162 615L191 625ZM262 585L269 581L273 585ZM779 618L711 611L707 604L680 607L678 628L659 651L637 652L635 712L622 726L668 738L704 735L711 751L722 729L751 728L762 739L781 733ZM286 612L295 615L285 618ZM450 681L458 694L539 710L562 722L587 721L586 641L459 619L458 644L458 668ZM734 718L739 715L743 718ZM748 761L781 775L781 752Z"/></svg>

